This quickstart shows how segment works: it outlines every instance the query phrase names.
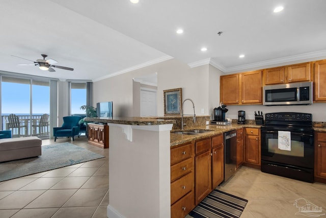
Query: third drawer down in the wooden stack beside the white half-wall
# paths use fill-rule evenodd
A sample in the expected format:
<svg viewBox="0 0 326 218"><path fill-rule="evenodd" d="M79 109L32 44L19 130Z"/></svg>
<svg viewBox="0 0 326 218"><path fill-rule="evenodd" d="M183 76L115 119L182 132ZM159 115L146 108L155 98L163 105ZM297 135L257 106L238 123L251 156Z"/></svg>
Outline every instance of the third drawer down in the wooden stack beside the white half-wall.
<svg viewBox="0 0 326 218"><path fill-rule="evenodd" d="M194 180L194 173L191 172L171 183L171 204L174 204L186 193L193 190Z"/></svg>

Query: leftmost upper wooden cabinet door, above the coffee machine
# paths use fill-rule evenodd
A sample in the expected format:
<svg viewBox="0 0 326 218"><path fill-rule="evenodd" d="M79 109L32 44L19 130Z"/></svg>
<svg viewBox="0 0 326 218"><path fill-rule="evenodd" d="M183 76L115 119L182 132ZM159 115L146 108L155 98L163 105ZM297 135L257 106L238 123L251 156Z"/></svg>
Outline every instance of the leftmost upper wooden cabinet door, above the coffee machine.
<svg viewBox="0 0 326 218"><path fill-rule="evenodd" d="M220 93L224 104L239 104L239 74L221 76Z"/></svg>

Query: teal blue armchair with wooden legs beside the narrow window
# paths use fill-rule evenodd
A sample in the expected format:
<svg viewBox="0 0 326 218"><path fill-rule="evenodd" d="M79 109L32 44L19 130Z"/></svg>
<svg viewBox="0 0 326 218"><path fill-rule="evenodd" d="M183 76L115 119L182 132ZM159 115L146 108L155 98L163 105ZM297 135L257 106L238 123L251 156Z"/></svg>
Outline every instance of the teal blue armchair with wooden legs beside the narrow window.
<svg viewBox="0 0 326 218"><path fill-rule="evenodd" d="M55 141L57 137L72 137L74 141L74 136L78 135L79 138L79 125L78 121L82 119L81 116L64 116L62 127L53 127L53 136Z"/></svg>

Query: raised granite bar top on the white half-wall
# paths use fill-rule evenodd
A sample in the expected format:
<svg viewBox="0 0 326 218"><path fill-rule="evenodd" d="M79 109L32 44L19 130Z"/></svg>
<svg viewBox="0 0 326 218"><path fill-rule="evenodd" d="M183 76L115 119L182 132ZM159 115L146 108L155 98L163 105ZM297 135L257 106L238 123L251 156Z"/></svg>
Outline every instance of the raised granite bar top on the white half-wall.
<svg viewBox="0 0 326 218"><path fill-rule="evenodd" d="M103 118L84 118L85 121L103 123L103 124L125 124L125 125L163 125L163 124L175 124L173 119L152 119L143 117L113 117L113 119L103 119Z"/></svg>

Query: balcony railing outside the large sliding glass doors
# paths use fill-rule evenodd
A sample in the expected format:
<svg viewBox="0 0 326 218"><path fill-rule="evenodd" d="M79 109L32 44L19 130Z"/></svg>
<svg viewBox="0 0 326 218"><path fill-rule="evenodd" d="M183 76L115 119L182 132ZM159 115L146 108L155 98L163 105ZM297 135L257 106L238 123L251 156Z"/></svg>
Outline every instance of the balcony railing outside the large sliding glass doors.
<svg viewBox="0 0 326 218"><path fill-rule="evenodd" d="M20 130L18 128L9 128L9 121L7 115L2 115L3 130L12 130L13 137L25 136L42 136L49 137L49 123L47 126L40 126L42 115L17 115L20 123Z"/></svg>

